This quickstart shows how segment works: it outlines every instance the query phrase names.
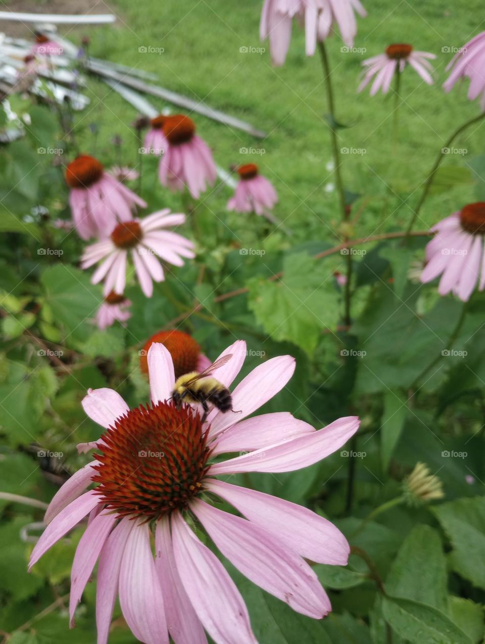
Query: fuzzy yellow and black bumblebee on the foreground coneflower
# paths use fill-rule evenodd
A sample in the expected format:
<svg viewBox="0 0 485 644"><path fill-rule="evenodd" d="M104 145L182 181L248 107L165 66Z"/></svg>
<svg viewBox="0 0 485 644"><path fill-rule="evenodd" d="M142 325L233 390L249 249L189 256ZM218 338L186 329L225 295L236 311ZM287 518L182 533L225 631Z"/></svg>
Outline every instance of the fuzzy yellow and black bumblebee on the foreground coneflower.
<svg viewBox="0 0 485 644"><path fill-rule="evenodd" d="M201 373L194 371L181 375L172 392L172 400L176 407L180 409L183 403L201 404L204 410L202 422L205 421L209 413L208 403L213 404L223 413L232 411L231 392L225 384L210 377L213 371L225 365L230 358L232 358L232 354L224 355Z"/></svg>

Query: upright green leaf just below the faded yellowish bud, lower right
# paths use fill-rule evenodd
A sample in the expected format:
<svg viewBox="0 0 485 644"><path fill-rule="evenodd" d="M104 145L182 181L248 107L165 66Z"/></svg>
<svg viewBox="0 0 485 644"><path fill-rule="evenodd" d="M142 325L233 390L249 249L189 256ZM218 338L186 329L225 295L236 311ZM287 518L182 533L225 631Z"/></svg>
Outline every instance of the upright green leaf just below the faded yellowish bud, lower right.
<svg viewBox="0 0 485 644"><path fill-rule="evenodd" d="M385 587L390 595L446 611L446 558L438 533L416 526L399 548Z"/></svg>

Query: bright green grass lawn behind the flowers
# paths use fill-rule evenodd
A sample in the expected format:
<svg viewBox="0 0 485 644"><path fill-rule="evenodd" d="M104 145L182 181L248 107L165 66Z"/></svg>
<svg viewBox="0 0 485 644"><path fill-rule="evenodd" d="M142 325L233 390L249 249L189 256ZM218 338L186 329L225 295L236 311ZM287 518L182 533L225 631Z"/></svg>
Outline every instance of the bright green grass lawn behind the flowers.
<svg viewBox="0 0 485 644"><path fill-rule="evenodd" d="M338 120L352 124L340 130L342 147L364 149L365 154L344 157L346 188L365 197L365 208L356 234L370 234L403 227L416 203L419 187L444 140L461 122L478 113L477 102L466 99L466 88L455 88L445 95L441 84L452 55L443 48L462 46L477 33L479 0L467 3L466 11L454 4L444 8L440 0L430 0L414 8L407 1L394 3L377 0L366 3L369 16L360 19L356 47L361 53L341 52L340 37L329 43L333 66ZM93 28L91 53L112 61L158 73L160 84L194 99L205 100L215 108L244 118L263 129L268 136L260 141L240 131L196 117L199 133L214 149L223 167L258 162L261 171L273 180L279 194L277 215L291 228L298 240L334 240L338 221L333 182L326 168L331 160L329 135L324 115L325 88L318 57L304 55L304 34L295 26L286 64L271 66L268 52L241 53L240 48L261 47L259 15L261 0L206 3L192 0L158 3L145 0L133 3L118 0L114 10L120 19L116 26ZM79 32L77 32L76 36ZM394 97L381 94L371 98L369 90L356 93L360 64L365 57L381 53L394 42L412 43L416 49L437 54L434 86L427 86L411 68L403 75L399 145L392 151L392 111ZM163 48L157 53L139 53L140 46ZM467 83L468 84L468 83ZM95 83L93 103L80 120L96 122L100 135L98 154L114 158L111 139L123 139L122 160L136 162L136 145L129 124L135 111L102 83ZM97 95L97 96L96 96ZM150 99L163 107L160 100ZM464 165L481 152L483 125L474 126L455 142L468 149L465 156L449 156L445 164ZM85 142L87 147L90 142ZM241 147L264 149L264 155L241 155ZM224 214L228 190L211 194L206 203ZM163 200L176 207L165 191ZM473 200L470 186L446 191L428 200L417 228L459 209L463 201ZM233 216L244 240L246 221Z"/></svg>

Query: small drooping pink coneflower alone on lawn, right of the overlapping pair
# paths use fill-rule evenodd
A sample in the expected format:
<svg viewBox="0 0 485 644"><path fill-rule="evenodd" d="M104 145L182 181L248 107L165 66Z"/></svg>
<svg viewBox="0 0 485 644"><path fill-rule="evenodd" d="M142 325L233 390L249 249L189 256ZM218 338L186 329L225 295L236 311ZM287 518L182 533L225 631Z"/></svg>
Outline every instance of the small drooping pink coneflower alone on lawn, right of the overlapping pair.
<svg viewBox="0 0 485 644"><path fill-rule="evenodd" d="M248 163L238 167L237 172L241 179L234 196L227 203L228 210L256 214L271 210L278 201L278 195L268 179L259 174L257 165Z"/></svg>

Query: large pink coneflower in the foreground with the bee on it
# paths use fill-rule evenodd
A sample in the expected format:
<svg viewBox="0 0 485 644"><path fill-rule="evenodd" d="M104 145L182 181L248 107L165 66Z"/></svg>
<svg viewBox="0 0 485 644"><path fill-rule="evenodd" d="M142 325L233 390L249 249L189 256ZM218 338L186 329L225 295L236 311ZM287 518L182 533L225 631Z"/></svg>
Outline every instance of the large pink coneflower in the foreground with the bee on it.
<svg viewBox="0 0 485 644"><path fill-rule="evenodd" d="M230 386L246 345L238 341L215 370ZM197 536L202 526L217 549L262 589L315 619L331 611L312 562L345 565L349 545L324 517L282 498L217 477L306 468L340 449L357 431L357 417L315 431L289 413L250 417L288 383L289 355L259 365L232 393L233 408L207 422L170 400L174 368L160 344L148 355L151 403L132 410L110 389L90 390L84 410L105 433L101 452L60 488L48 510L30 567L89 515L71 571L71 621L99 559L98 644L105 644L116 596L134 636L145 644L255 644L248 611L219 558ZM245 419L245 420L243 420ZM225 453L241 455L221 460ZM215 458L217 457L217 458ZM216 462L216 460L218 462ZM95 489L85 491L91 483ZM212 505L219 497L242 516ZM220 502L219 502L220 503ZM151 536L155 538L155 556Z"/></svg>

